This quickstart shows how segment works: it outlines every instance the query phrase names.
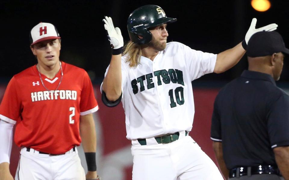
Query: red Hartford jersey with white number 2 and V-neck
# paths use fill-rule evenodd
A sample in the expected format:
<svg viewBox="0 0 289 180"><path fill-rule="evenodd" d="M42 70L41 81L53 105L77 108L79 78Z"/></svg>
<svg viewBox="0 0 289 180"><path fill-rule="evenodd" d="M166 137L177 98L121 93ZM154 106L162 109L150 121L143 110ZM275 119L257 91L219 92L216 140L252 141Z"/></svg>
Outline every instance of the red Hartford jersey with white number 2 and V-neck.
<svg viewBox="0 0 289 180"><path fill-rule="evenodd" d="M79 117L97 111L98 104L87 72L64 62L61 67L62 80L61 70L53 79L40 74L47 89L36 65L10 80L0 119L16 124L18 146L62 154L80 145Z"/></svg>

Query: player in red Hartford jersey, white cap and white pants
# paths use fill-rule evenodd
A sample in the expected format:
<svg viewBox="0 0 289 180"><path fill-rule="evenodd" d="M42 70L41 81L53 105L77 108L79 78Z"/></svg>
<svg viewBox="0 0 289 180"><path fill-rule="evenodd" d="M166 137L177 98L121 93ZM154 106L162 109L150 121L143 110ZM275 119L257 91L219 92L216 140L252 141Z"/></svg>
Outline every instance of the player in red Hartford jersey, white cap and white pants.
<svg viewBox="0 0 289 180"><path fill-rule="evenodd" d="M98 110L92 83L84 69L59 60L60 36L50 23L30 32L37 64L14 75L0 105L0 179L9 171L12 134L22 147L15 179L98 179L96 133L92 113ZM82 142L88 173L77 146Z"/></svg>

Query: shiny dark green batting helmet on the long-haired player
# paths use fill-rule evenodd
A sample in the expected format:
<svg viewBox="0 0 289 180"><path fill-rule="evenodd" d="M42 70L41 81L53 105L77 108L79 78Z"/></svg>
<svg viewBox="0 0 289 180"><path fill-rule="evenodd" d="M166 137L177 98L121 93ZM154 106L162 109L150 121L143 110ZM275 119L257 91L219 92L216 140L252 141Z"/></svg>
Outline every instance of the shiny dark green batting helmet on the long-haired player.
<svg viewBox="0 0 289 180"><path fill-rule="evenodd" d="M148 30L150 27L159 26L164 23L176 22L176 18L166 17L160 6L145 5L137 8L129 15L127 30L130 40L138 45L151 42L152 35ZM139 38L140 35L143 38Z"/></svg>

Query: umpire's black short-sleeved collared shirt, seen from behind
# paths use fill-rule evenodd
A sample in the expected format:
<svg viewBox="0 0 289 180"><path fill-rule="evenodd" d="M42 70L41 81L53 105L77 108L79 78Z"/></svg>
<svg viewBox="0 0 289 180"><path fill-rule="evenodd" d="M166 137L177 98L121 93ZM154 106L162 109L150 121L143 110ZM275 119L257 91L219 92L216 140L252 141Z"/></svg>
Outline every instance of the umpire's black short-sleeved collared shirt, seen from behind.
<svg viewBox="0 0 289 180"><path fill-rule="evenodd" d="M289 145L289 96L269 74L244 71L216 97L211 139L228 169L276 165L273 148Z"/></svg>

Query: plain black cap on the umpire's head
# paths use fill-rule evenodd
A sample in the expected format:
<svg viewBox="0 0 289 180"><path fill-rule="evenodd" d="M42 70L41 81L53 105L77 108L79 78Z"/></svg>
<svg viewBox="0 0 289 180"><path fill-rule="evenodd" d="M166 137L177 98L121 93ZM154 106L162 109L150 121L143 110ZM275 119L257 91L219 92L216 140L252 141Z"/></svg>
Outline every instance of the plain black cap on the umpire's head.
<svg viewBox="0 0 289 180"><path fill-rule="evenodd" d="M252 35L247 46L247 56L268 56L274 53L289 54L282 36L276 31L261 31Z"/></svg>

